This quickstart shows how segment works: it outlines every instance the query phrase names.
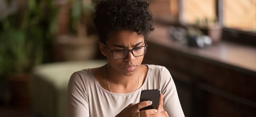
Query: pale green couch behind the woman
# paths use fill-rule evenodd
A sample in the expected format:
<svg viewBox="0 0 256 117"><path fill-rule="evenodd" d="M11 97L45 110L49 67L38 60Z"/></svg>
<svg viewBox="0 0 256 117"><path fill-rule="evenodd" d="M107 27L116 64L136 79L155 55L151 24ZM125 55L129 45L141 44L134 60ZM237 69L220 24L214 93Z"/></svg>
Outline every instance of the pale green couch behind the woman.
<svg viewBox="0 0 256 117"><path fill-rule="evenodd" d="M33 117L65 117L67 86L71 74L104 64L106 60L87 60L37 66L32 76Z"/></svg>

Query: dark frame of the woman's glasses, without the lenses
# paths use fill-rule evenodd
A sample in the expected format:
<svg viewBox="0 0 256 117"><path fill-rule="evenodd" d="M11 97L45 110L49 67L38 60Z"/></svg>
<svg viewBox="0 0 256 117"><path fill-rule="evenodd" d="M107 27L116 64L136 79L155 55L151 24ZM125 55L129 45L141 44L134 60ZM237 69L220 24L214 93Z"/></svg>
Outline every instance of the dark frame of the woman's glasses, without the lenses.
<svg viewBox="0 0 256 117"><path fill-rule="evenodd" d="M143 55L146 54L147 47L148 47L148 43L145 41L145 39L144 39L144 42L145 42L145 45L144 45L144 46L140 46L140 47L146 47L145 52L144 52ZM102 44L103 44L106 48L108 48L104 43L102 43ZM133 49L114 49L114 50L111 50L110 48L108 48L108 50L112 53L112 56L113 56L114 59L123 59L123 58L126 58L126 57L127 57L129 51L131 51L131 53L133 54L133 50L134 50L134 49L137 49L137 48L140 48L140 47L135 47L135 48L133 48ZM114 52L114 51L120 51L120 50L126 50L126 51L127 51L125 57L123 57L123 58L116 58L116 57L114 57L113 52ZM143 56L143 55L135 56L135 55L133 54L133 56L135 56L135 57L139 57L139 56Z"/></svg>

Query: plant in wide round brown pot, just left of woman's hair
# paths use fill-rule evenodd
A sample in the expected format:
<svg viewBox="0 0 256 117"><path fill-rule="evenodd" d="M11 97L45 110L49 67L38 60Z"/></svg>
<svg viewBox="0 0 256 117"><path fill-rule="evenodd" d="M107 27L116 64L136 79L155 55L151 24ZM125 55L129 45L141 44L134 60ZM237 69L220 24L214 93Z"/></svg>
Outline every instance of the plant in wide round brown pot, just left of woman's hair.
<svg viewBox="0 0 256 117"><path fill-rule="evenodd" d="M93 0L70 0L66 8L69 12L69 32L57 35L56 55L58 60L87 60L93 59L96 53L98 36L93 25ZM62 18L59 18L61 21Z"/></svg>

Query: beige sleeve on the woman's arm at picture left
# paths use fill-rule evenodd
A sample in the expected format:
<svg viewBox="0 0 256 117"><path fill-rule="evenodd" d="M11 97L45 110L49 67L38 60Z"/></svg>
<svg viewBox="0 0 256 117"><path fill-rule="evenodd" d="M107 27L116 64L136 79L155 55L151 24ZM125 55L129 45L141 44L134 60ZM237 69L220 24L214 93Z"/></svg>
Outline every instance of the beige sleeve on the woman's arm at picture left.
<svg viewBox="0 0 256 117"><path fill-rule="evenodd" d="M89 103L83 77L75 72L69 79L67 89L66 117L89 117Z"/></svg>

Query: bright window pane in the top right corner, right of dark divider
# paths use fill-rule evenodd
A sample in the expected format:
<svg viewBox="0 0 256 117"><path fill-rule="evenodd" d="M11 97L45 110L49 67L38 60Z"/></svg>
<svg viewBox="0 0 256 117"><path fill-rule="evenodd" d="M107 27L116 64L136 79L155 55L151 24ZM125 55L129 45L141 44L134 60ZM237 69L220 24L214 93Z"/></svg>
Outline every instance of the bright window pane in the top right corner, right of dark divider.
<svg viewBox="0 0 256 117"><path fill-rule="evenodd" d="M224 27L256 32L256 0L220 1Z"/></svg>

